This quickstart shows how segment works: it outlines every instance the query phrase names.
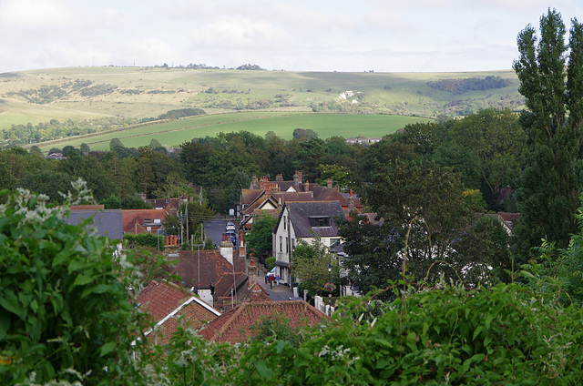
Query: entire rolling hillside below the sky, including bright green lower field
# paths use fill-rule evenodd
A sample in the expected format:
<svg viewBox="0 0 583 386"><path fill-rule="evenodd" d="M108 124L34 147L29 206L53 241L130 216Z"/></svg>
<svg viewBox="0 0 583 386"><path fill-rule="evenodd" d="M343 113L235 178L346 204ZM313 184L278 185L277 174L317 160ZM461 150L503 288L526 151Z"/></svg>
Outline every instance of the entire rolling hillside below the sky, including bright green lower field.
<svg viewBox="0 0 583 386"><path fill-rule="evenodd" d="M504 86L479 89L487 78L502 80ZM477 79L478 85L472 86L471 79ZM470 87L465 87L467 85ZM107 125L95 124L95 129L80 131L114 128L116 134L97 138L93 133L93 140L76 137L71 142L81 140L95 143L96 147L111 136L128 138L128 143L124 141L124 144L133 146L133 143L142 144L142 139L149 142L151 137L147 135L159 132L165 140L157 139L171 146L192 137L240 129L260 135L271 130L281 137L291 137L296 127L312 128L324 138L359 134L382 137L383 133L400 125L396 123L398 120L383 115L455 117L486 107L520 108L523 99L517 87L517 76L511 70L324 73L115 66L55 68L0 74L0 129L7 130L13 125L44 125L50 120L66 121L68 127L83 122L87 127L97 119L108 119ZM148 128L132 126L185 107L202 108L210 117L194 117L188 122L181 119ZM252 119L231 114L215 115L240 114L241 111L251 112L251 116L260 112L262 115ZM332 115L306 115L312 112ZM281 116L282 113L286 115ZM338 117L338 114L344 116ZM214 123L207 123L205 119L214 120ZM120 129L124 129L123 135ZM77 134L73 130L66 135ZM38 135L35 141L56 137L58 134L54 133Z"/></svg>

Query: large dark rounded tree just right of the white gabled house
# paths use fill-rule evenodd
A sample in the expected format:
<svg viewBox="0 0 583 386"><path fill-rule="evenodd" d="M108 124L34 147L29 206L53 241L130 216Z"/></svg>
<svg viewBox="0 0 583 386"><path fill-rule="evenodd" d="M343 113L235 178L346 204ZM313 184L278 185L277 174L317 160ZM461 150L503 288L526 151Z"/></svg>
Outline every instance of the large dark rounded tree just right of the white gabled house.
<svg viewBox="0 0 583 386"><path fill-rule="evenodd" d="M394 161L379 168L362 198L405 242L407 272L435 278L437 260L452 259L451 243L470 221L460 179L434 162Z"/></svg>

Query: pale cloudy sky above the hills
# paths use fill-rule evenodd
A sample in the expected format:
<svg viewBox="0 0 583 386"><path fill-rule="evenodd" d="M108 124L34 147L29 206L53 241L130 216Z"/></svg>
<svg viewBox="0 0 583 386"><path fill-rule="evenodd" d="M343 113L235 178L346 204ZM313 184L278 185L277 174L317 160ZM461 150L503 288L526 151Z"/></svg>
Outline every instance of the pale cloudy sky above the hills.
<svg viewBox="0 0 583 386"><path fill-rule="evenodd" d="M517 35L581 0L0 0L0 73L69 66L512 68Z"/></svg>

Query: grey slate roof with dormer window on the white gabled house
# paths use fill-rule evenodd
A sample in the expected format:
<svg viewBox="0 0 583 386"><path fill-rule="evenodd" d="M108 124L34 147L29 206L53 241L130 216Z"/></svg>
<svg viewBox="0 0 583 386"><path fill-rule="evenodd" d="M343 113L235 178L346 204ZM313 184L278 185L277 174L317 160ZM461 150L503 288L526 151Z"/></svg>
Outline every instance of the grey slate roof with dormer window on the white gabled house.
<svg viewBox="0 0 583 386"><path fill-rule="evenodd" d="M339 201L286 202L285 205L290 210L290 221L298 238L312 238L314 233L324 238L335 237L338 228L334 218L346 218ZM330 217L332 226L312 227L311 217Z"/></svg>

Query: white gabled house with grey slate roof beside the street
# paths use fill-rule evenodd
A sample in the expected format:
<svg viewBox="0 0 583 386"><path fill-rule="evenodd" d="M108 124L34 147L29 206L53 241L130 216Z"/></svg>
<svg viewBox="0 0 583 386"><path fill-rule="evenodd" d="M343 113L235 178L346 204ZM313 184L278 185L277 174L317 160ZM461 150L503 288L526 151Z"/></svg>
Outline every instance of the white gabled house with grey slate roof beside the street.
<svg viewBox="0 0 583 386"><path fill-rule="evenodd" d="M319 236L326 247L340 241L336 218L346 218L339 201L286 202L272 231L275 266L283 284L290 282L290 257L299 240Z"/></svg>

